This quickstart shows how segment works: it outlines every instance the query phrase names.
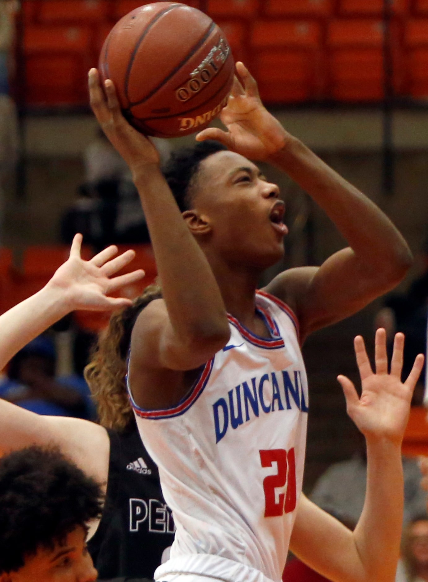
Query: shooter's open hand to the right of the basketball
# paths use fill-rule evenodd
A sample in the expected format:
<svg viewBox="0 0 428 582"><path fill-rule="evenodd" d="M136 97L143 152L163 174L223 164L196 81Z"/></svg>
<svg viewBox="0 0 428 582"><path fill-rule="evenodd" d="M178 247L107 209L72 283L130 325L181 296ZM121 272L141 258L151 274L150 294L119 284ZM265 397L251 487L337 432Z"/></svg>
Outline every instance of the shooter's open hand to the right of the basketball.
<svg viewBox="0 0 428 582"><path fill-rule="evenodd" d="M241 62L236 63L237 77L220 119L227 132L208 127L196 136L197 141L217 140L229 150L246 158L266 161L291 139L280 122L263 106L255 79Z"/></svg>

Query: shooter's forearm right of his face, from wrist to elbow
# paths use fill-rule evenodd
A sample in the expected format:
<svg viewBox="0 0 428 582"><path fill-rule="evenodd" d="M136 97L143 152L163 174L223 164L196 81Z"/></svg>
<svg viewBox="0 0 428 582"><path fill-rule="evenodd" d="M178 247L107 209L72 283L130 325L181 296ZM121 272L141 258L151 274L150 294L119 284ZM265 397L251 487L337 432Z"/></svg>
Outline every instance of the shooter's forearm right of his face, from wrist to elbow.
<svg viewBox="0 0 428 582"><path fill-rule="evenodd" d="M334 222L355 254L377 272L388 271L400 280L412 255L400 232L387 216L316 156L293 138L270 162L299 184Z"/></svg>

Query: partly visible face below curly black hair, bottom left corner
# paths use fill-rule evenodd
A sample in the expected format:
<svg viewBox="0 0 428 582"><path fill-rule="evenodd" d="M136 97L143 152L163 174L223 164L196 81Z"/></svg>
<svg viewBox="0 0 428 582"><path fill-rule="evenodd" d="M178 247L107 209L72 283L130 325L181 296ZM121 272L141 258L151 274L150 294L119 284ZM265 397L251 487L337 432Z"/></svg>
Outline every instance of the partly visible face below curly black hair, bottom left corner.
<svg viewBox="0 0 428 582"><path fill-rule="evenodd" d="M8 574L4 582L92 582L97 570L85 544L86 532L77 527L63 544L54 549L40 548L28 556L24 566ZM0 580L3 582L2 577Z"/></svg>

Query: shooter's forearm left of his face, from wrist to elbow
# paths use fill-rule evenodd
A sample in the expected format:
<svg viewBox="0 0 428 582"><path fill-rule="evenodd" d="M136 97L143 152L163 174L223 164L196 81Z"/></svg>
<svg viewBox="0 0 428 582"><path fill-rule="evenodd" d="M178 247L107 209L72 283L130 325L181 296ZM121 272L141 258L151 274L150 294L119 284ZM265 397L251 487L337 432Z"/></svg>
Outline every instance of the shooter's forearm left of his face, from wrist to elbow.
<svg viewBox="0 0 428 582"><path fill-rule="evenodd" d="M153 245L163 299L183 337L229 334L226 308L211 267L156 166L134 175Z"/></svg>

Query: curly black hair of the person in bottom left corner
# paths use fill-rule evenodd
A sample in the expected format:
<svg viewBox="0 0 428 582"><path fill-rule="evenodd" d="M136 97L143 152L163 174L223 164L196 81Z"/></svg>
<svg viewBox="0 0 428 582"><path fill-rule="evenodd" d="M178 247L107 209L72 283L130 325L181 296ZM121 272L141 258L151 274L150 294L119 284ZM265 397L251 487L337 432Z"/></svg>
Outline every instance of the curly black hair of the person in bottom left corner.
<svg viewBox="0 0 428 582"><path fill-rule="evenodd" d="M54 549L101 515L100 486L59 449L31 446L0 459L0 574Z"/></svg>

